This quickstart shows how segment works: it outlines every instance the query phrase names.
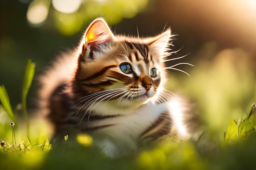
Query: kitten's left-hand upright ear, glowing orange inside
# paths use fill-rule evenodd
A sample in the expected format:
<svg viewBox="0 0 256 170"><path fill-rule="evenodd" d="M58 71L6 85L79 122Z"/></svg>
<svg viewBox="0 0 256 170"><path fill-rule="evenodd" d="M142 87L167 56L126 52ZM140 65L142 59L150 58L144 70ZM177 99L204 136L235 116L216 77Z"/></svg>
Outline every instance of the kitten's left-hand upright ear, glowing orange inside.
<svg viewBox="0 0 256 170"><path fill-rule="evenodd" d="M85 37L82 42L83 60L85 58L94 59L94 55L97 52L106 51L106 48L113 42L115 42L115 36L112 34L108 24L101 18L94 20L85 31Z"/></svg>

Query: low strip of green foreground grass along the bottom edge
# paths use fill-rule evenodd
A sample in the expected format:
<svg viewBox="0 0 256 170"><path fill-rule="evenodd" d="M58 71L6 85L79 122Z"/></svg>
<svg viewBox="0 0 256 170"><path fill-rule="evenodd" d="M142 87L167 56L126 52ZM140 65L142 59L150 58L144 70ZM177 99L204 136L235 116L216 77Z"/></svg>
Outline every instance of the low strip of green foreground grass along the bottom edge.
<svg viewBox="0 0 256 170"><path fill-rule="evenodd" d="M7 136L4 139L5 145L0 150L0 163L5 170L17 168L21 170L56 168L64 170L74 168L234 170L252 168L256 152L256 133L255 129L250 127L255 125L256 119L252 115L241 121L238 126L234 126L233 122L220 146L213 148L202 146L200 140L203 140L203 136L198 143L178 140L175 137L163 137L151 146L139 150L135 155L120 159L101 157L99 153L95 153L90 148L88 139L76 143L69 139L65 140L63 137L62 144L54 145L49 144L45 135L37 135L34 140L29 140L19 134L19 137L16 137L18 143L12 144L12 135L10 135L12 128L9 125L6 127L8 130L5 130ZM17 133L24 134L22 130L18 130ZM23 137L24 141L22 141ZM40 138L44 138L45 141L38 143Z"/></svg>

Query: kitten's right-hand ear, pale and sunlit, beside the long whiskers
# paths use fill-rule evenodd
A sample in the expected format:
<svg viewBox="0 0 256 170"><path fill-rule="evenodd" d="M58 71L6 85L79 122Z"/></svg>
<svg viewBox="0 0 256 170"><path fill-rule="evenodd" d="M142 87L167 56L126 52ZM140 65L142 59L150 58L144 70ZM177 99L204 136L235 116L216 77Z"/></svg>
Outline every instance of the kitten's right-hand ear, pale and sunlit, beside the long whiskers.
<svg viewBox="0 0 256 170"><path fill-rule="evenodd" d="M164 52L167 50L167 48L171 45L171 29L168 29L167 31L163 32L160 35L157 35L156 37L150 39L147 44L150 49L153 49L157 54L164 54Z"/></svg>

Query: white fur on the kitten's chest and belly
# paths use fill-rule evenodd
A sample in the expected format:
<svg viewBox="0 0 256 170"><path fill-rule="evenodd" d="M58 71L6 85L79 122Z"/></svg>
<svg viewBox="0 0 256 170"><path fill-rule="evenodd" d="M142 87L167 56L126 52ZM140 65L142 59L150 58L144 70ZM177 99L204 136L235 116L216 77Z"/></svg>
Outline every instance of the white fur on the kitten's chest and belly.
<svg viewBox="0 0 256 170"><path fill-rule="evenodd" d="M150 127L150 125L154 124L162 113L168 113L173 117L171 113L172 108L167 106L174 108L177 103L174 103L174 105L175 106L173 106L171 102L168 104L155 105L149 103L133 110L133 112L128 115L94 121L90 126L107 126L113 124L113 126L93 130L90 133L94 139L94 144L99 146L101 152L104 152L104 155L107 156L118 157L122 154L126 154L126 152L129 153L137 148L141 134Z"/></svg>

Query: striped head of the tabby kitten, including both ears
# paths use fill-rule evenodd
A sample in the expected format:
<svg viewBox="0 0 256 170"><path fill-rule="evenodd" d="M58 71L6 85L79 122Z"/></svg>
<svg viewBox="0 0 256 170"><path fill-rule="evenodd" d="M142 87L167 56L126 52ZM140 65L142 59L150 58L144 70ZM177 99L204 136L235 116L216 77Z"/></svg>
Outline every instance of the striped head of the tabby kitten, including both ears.
<svg viewBox="0 0 256 170"><path fill-rule="evenodd" d="M81 40L76 82L89 94L117 106L157 100L162 90L171 30L151 38L113 35L101 18L94 20Z"/></svg>

